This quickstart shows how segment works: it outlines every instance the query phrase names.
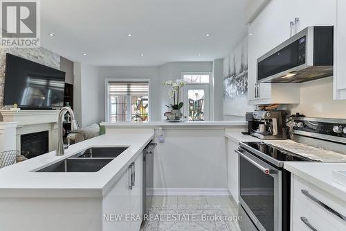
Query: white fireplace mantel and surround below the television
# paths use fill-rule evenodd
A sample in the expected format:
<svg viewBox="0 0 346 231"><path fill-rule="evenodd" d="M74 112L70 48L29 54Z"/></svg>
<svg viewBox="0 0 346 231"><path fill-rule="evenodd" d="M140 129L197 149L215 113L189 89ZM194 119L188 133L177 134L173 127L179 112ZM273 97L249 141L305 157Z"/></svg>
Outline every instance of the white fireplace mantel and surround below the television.
<svg viewBox="0 0 346 231"><path fill-rule="evenodd" d="M57 121L60 110L0 110L3 122L17 122L14 137L16 149L21 151L21 135L33 132L49 132L49 151L55 150L57 143Z"/></svg>

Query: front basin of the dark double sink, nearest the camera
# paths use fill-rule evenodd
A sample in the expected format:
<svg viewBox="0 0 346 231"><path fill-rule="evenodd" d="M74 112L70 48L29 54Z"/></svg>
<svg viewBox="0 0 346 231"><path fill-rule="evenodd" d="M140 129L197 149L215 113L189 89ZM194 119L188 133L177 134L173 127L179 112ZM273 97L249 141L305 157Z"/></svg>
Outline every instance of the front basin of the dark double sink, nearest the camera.
<svg viewBox="0 0 346 231"><path fill-rule="evenodd" d="M46 166L37 172L96 172L109 164L113 158L68 158Z"/></svg>

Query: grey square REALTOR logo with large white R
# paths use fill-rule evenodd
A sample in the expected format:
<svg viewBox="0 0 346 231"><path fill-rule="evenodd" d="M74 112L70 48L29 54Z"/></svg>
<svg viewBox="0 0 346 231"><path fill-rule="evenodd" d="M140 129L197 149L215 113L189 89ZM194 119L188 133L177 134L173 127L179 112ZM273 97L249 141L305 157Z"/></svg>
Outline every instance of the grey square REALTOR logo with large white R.
<svg viewBox="0 0 346 231"><path fill-rule="evenodd" d="M39 46L39 1L0 0L1 45Z"/></svg>

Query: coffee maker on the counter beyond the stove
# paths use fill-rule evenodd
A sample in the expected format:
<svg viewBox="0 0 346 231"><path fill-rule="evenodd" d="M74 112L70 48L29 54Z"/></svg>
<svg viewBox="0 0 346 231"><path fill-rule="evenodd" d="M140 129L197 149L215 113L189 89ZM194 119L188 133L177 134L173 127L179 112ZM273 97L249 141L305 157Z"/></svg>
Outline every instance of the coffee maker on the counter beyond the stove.
<svg viewBox="0 0 346 231"><path fill-rule="evenodd" d="M259 139L287 139L286 111L246 112L248 134Z"/></svg>

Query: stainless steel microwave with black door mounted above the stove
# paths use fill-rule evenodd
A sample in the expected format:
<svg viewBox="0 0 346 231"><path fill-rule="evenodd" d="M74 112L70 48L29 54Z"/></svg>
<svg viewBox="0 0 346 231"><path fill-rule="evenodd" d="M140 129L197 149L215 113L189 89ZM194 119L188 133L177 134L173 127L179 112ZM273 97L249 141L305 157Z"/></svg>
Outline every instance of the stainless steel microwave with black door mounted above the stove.
<svg viewBox="0 0 346 231"><path fill-rule="evenodd" d="M257 59L258 83L302 83L333 75L333 26L309 26Z"/></svg>

